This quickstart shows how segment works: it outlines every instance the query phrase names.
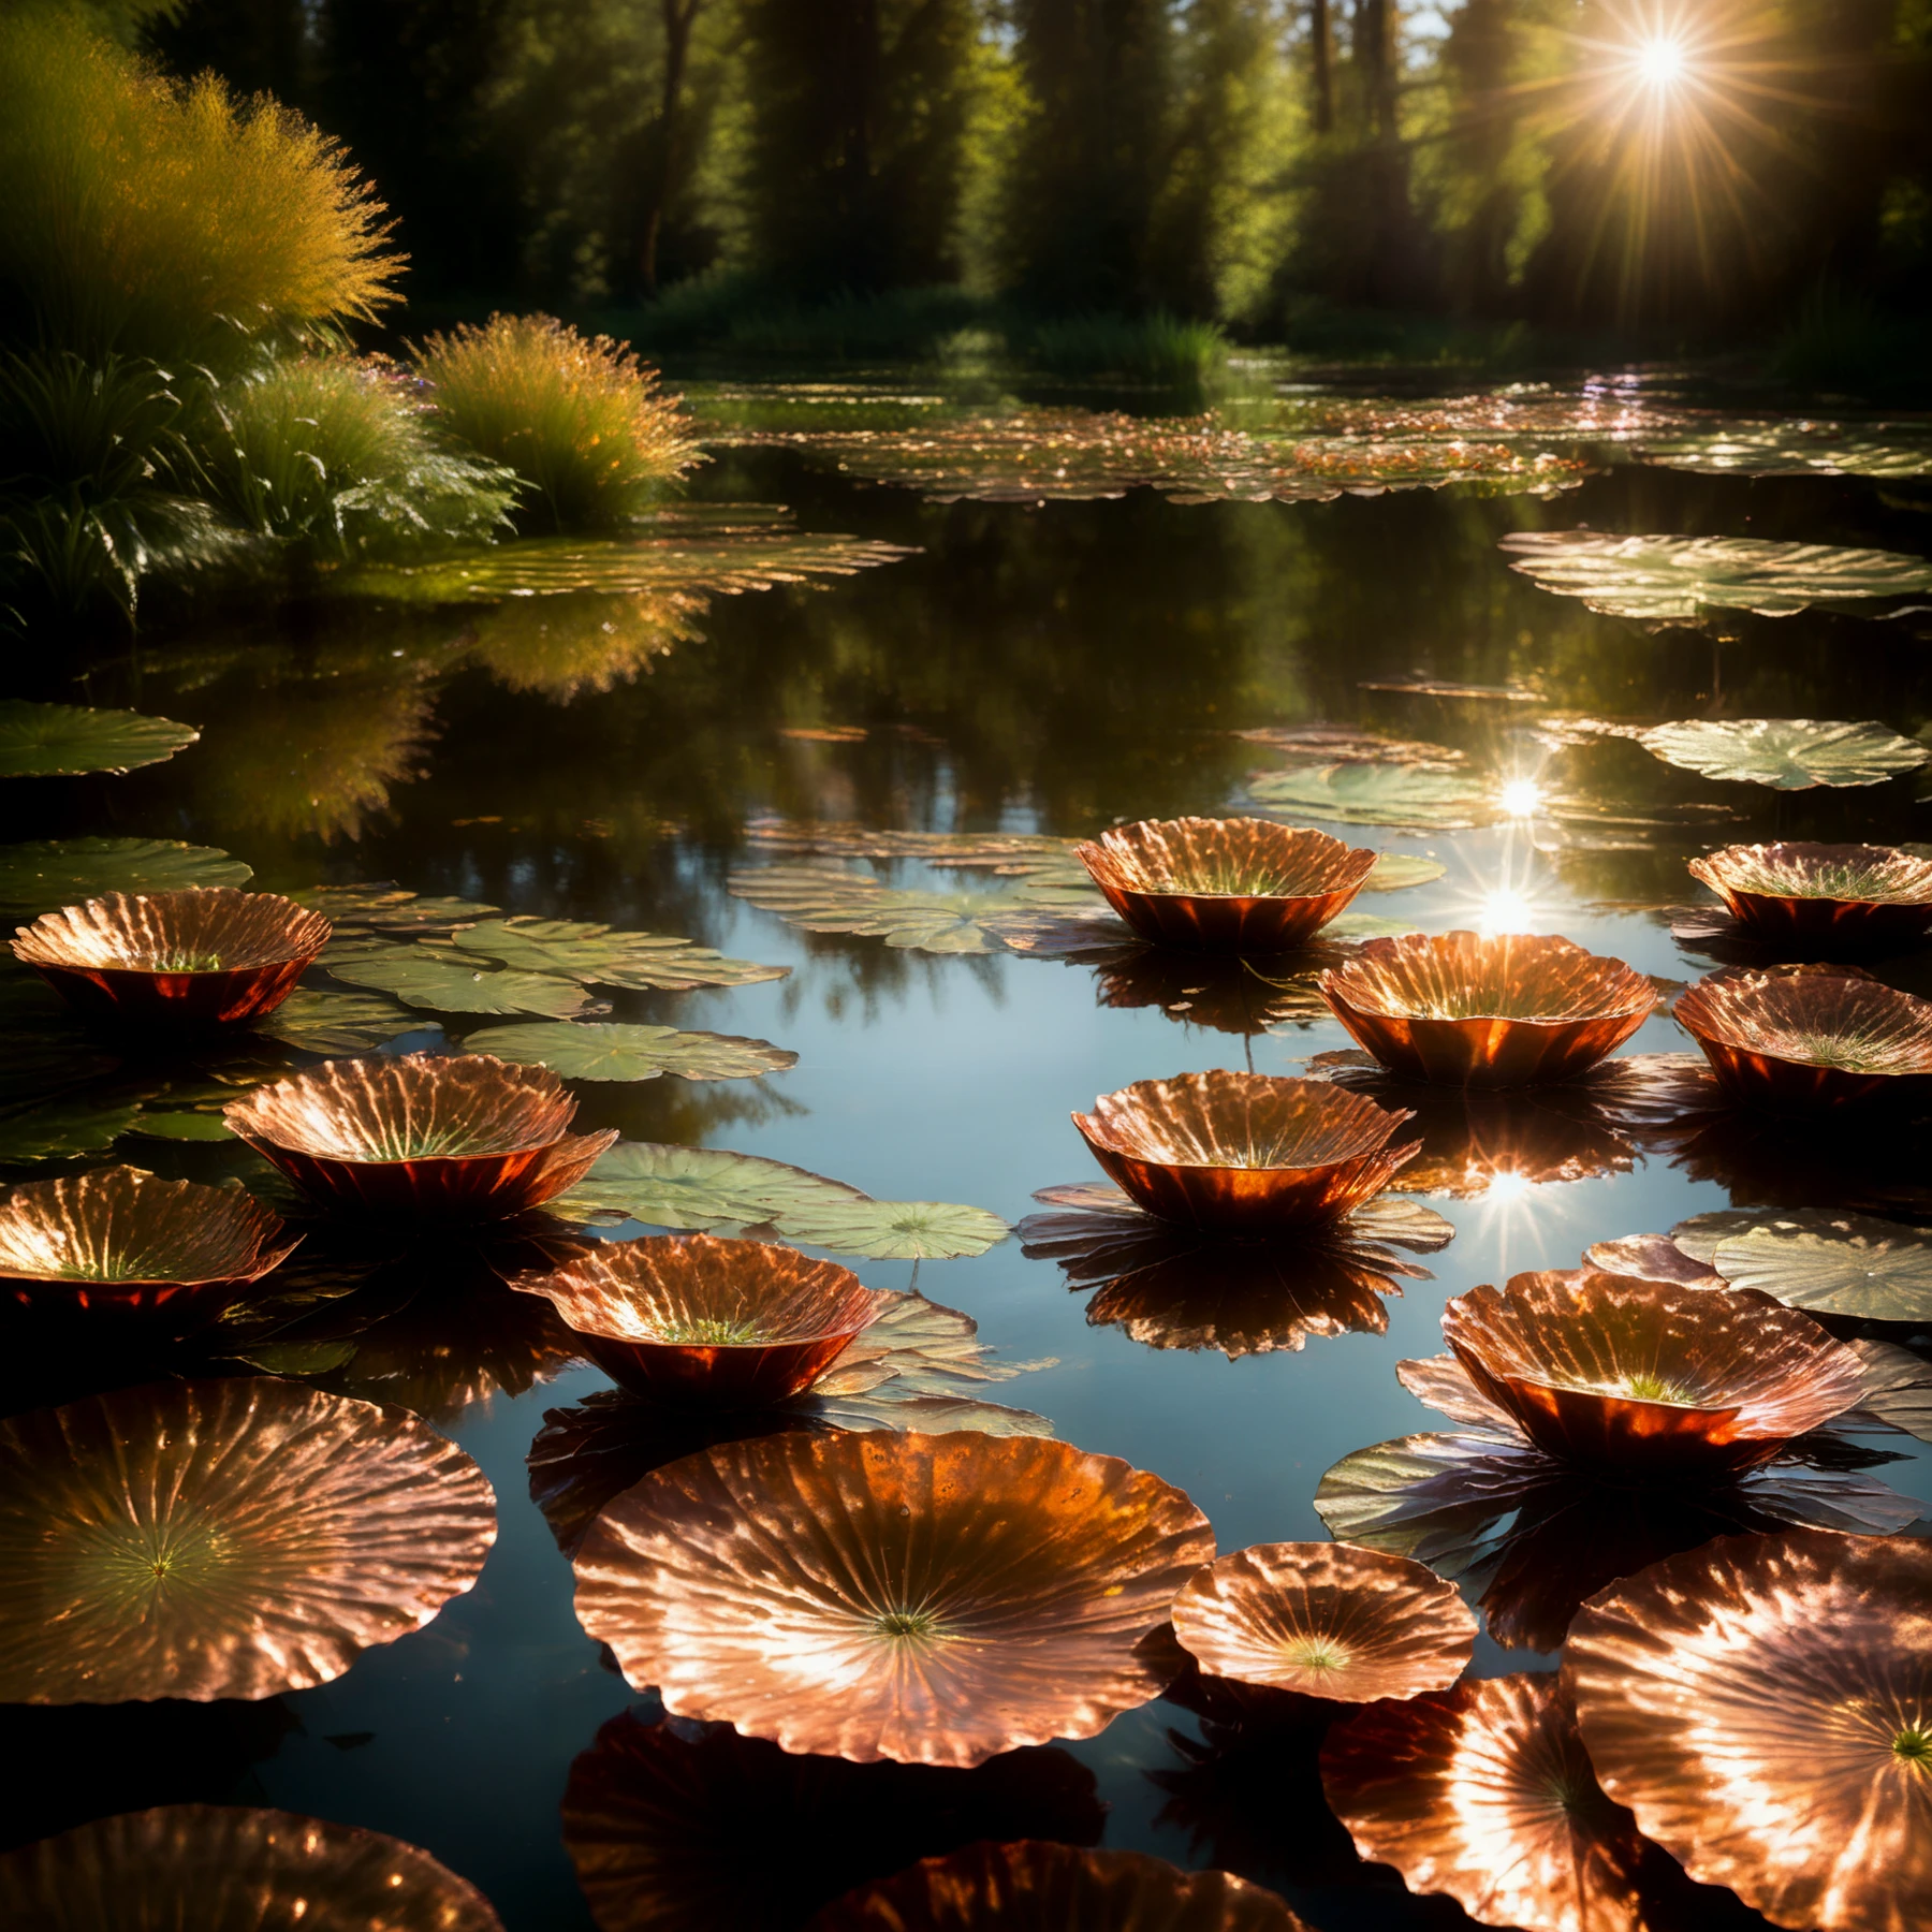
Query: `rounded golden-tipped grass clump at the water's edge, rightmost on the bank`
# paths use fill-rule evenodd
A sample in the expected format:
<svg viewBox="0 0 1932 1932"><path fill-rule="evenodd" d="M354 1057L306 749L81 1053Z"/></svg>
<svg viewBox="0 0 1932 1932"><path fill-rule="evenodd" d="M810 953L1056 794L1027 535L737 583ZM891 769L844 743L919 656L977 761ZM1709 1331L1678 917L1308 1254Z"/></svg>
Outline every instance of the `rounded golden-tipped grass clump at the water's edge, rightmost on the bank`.
<svg viewBox="0 0 1932 1932"><path fill-rule="evenodd" d="M609 336L493 315L431 336L415 361L444 423L524 479L527 527L622 529L699 460L678 398Z"/></svg>

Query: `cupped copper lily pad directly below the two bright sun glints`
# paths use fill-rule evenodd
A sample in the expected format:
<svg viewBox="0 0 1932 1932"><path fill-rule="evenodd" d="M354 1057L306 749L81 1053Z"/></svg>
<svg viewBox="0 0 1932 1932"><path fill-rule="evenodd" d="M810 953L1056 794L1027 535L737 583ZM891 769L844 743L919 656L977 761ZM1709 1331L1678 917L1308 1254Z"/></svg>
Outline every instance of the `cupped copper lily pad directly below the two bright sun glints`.
<svg viewBox="0 0 1932 1932"><path fill-rule="evenodd" d="M1410 933L1321 974L1335 1018L1401 1080L1532 1086L1615 1053L1662 995L1569 939Z"/></svg>

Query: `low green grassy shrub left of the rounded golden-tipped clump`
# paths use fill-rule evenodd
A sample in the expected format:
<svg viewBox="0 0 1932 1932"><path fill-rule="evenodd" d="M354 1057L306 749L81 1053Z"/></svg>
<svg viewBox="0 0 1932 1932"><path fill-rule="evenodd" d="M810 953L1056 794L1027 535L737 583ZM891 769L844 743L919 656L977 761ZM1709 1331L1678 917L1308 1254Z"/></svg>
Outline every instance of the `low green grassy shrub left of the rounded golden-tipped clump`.
<svg viewBox="0 0 1932 1932"><path fill-rule="evenodd" d="M381 361L299 355L214 394L211 495L245 529L348 556L508 527L516 477L460 450Z"/></svg>

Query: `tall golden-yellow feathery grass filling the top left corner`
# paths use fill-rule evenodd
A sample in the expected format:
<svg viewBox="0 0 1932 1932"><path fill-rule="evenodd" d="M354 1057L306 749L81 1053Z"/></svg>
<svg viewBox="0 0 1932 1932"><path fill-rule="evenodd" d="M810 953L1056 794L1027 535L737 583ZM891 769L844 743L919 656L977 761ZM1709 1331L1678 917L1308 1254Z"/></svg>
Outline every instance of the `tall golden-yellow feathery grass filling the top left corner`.
<svg viewBox="0 0 1932 1932"><path fill-rule="evenodd" d="M180 87L64 8L0 12L0 330L236 363L394 299L383 207L298 114Z"/></svg>

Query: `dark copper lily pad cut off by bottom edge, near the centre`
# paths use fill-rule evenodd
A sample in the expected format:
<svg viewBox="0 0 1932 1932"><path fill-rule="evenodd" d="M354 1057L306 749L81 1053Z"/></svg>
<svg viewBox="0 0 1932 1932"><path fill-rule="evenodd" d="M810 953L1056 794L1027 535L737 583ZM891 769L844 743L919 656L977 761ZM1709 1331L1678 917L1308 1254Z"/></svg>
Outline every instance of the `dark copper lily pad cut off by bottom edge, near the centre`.
<svg viewBox="0 0 1932 1932"><path fill-rule="evenodd" d="M1273 1891L1144 1851L968 1845L846 1893L808 1932L1308 1932Z"/></svg>

